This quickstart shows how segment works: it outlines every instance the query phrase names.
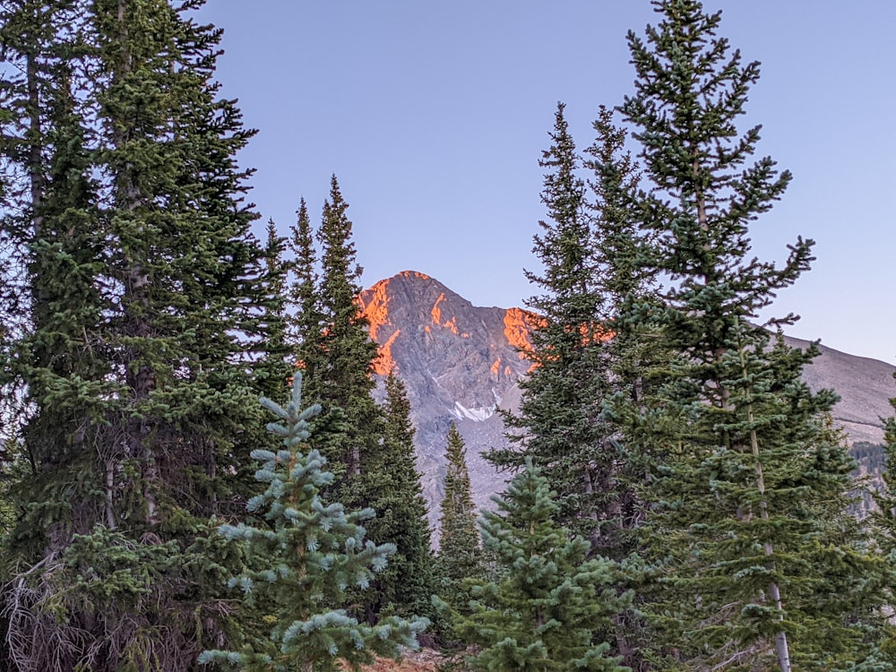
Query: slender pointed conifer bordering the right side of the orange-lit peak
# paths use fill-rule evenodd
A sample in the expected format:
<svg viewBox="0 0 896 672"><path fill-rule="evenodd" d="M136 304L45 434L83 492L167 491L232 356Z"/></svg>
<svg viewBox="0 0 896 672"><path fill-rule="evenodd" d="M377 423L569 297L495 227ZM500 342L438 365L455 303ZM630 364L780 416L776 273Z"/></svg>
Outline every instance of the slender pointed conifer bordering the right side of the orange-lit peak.
<svg viewBox="0 0 896 672"><path fill-rule="evenodd" d="M558 522L598 538L600 519L615 497L612 429L599 419L608 392L607 319L586 189L576 177L581 159L562 103L550 137L553 144L539 161L551 169L541 194L550 223L539 222L544 233L534 247L544 271L526 273L545 292L526 302L541 323L530 332L531 349L524 353L533 368L520 383L520 414L505 417L522 430L512 438L523 448L493 451L489 459L513 469L531 460L558 493Z"/></svg>

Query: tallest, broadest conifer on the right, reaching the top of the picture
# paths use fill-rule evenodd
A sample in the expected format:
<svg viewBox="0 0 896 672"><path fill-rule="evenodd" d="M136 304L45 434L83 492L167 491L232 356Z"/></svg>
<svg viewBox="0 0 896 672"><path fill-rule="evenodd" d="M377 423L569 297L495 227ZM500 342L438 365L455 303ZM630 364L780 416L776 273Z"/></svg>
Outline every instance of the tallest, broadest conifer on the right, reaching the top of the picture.
<svg viewBox="0 0 896 672"><path fill-rule="evenodd" d="M694 0L655 5L647 42L629 33L638 79L622 111L642 144L651 190L639 212L668 289L661 309L632 319L676 356L648 373L641 403L619 398L613 411L628 449L655 458L641 495L660 667L865 659L854 616L877 599L879 574L861 542L824 522L843 520L849 504L852 462L823 427L836 398L801 381L817 349L772 342L749 322L812 261L801 238L780 268L747 256L750 222L790 178L769 158L749 163L758 127L737 132L758 65L717 36L719 13ZM823 569L835 557L849 558L836 576Z"/></svg>

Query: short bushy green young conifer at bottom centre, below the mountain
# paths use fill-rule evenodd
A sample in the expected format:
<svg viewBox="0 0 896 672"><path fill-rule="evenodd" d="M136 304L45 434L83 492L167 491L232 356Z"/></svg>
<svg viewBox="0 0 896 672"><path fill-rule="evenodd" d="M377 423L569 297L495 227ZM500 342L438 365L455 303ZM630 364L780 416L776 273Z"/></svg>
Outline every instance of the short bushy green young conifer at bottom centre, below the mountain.
<svg viewBox="0 0 896 672"><path fill-rule="evenodd" d="M458 618L461 635L481 647L470 662L521 672L628 670L597 636L628 596L617 596L611 562L586 560L589 543L557 527L552 495L529 461L494 497L497 512L483 514L483 544L499 573L472 584L470 615Z"/></svg>

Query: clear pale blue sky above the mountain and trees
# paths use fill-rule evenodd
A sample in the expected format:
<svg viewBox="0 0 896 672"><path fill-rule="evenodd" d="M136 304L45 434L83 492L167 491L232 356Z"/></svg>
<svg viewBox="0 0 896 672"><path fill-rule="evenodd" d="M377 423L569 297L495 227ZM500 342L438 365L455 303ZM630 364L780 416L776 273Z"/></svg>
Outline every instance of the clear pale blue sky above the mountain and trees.
<svg viewBox="0 0 896 672"><path fill-rule="evenodd" d="M896 362L896 2L716 0L721 34L762 62L745 125L794 181L756 222L782 259L818 260L776 313L792 335ZM218 78L259 129L240 157L252 201L285 234L298 199L318 217L335 173L364 283L423 271L477 306L533 293L544 217L540 151L556 101L576 142L633 89L625 33L647 0L211 0Z"/></svg>

